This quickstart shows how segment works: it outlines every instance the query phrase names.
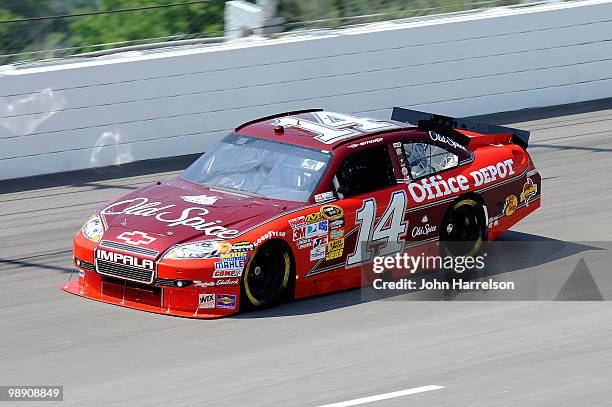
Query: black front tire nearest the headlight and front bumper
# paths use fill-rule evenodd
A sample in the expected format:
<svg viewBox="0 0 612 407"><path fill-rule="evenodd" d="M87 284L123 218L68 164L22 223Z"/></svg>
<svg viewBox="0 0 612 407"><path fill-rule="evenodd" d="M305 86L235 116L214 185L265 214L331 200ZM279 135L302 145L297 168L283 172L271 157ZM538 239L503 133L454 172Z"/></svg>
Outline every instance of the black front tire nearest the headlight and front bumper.
<svg viewBox="0 0 612 407"><path fill-rule="evenodd" d="M268 242L249 258L243 276L243 303L247 308L265 308L287 297L291 255L284 245Z"/></svg>

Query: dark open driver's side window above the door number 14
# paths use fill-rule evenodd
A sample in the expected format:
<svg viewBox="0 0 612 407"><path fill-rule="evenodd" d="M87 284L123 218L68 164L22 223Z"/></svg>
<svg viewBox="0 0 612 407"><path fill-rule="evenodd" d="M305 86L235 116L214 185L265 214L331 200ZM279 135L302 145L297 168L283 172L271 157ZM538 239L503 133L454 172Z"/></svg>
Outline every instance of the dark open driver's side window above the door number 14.
<svg viewBox="0 0 612 407"><path fill-rule="evenodd" d="M387 145L359 151L340 165L334 186L340 198L396 185Z"/></svg>

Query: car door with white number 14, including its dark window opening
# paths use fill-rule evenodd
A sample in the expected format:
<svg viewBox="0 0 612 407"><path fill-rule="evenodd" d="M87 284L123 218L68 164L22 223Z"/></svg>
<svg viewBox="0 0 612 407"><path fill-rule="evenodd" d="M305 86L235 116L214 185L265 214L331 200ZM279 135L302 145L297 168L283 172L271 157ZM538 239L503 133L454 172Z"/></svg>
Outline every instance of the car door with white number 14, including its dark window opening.
<svg viewBox="0 0 612 407"><path fill-rule="evenodd" d="M330 274L355 286L360 275L357 266L374 256L401 251L407 193L406 185L398 184L392 151L379 142L350 153L339 165L332 181L339 199L323 205L322 212L342 216L329 218L325 258L316 262L306 277L334 272Z"/></svg>

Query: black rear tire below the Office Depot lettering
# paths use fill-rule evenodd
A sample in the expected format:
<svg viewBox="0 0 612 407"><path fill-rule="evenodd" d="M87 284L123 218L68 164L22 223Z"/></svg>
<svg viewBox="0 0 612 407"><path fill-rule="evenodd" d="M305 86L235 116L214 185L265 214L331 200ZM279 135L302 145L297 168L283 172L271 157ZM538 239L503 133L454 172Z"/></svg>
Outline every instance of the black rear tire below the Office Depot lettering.
<svg viewBox="0 0 612 407"><path fill-rule="evenodd" d="M482 205L473 199L456 202L444 216L440 244L447 256L474 256L486 240Z"/></svg>

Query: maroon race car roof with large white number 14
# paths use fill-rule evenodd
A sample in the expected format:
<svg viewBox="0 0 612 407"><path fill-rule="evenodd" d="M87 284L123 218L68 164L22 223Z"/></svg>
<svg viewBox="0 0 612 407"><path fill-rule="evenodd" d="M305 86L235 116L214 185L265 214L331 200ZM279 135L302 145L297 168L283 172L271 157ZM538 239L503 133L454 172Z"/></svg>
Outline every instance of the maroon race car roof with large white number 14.
<svg viewBox="0 0 612 407"><path fill-rule="evenodd" d="M406 124L401 122L310 109L253 120L237 127L236 133L333 150L345 142L405 128Z"/></svg>

